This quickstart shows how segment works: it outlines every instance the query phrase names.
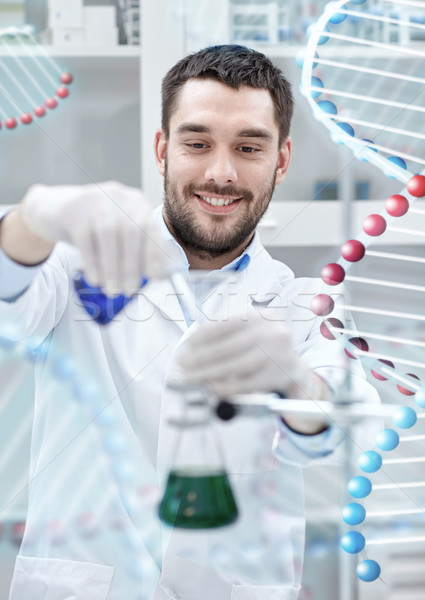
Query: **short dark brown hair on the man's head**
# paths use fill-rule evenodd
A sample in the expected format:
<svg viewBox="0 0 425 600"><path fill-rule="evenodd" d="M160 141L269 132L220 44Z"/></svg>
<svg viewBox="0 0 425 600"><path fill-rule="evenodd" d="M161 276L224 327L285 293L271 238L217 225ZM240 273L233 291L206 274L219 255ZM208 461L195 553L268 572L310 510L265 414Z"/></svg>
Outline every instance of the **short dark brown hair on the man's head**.
<svg viewBox="0 0 425 600"><path fill-rule="evenodd" d="M192 78L215 79L234 89L247 85L268 90L279 127L279 145L288 137L294 105L290 83L264 54L234 44L189 54L168 71L162 82L162 129L167 137L178 94Z"/></svg>

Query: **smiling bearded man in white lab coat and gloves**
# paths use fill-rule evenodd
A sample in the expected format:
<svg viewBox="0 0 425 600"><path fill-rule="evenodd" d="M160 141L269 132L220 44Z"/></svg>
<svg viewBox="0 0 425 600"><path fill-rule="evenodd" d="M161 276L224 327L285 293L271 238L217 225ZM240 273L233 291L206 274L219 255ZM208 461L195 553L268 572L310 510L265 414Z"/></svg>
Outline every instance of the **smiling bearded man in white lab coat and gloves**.
<svg viewBox="0 0 425 600"><path fill-rule="evenodd" d="M36 185L1 222L0 318L37 356L28 527L10 600L299 595L302 468L333 452L338 427L289 415L215 423L237 521L161 531L157 518L175 458L167 383L176 373L222 398L279 391L317 401L345 376L342 347L308 309L321 282L295 278L255 231L289 167L290 85L261 53L225 45L179 61L162 97L155 154L165 198L154 214L140 190L116 182ZM226 312L207 294L193 322L163 278L171 266L237 272ZM106 327L81 306L81 269L108 294L135 295ZM72 373L91 382L73 386L74 398ZM358 365L351 386L376 400ZM105 460L97 423L111 435ZM77 536L87 514L98 533Z"/></svg>

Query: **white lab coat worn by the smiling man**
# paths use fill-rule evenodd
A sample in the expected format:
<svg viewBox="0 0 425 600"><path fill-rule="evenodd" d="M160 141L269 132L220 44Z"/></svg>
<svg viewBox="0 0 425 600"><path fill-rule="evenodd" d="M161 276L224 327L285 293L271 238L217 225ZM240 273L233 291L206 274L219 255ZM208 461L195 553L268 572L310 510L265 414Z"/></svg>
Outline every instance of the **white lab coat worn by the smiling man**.
<svg viewBox="0 0 425 600"><path fill-rule="evenodd" d="M297 352L335 384L343 351L320 335L308 310L321 282L294 279L258 236L249 252L226 310L271 303ZM78 253L58 244L27 291L0 302L0 323L37 354L27 528L10 600L296 600L302 466L330 452L338 431L306 442L272 416L217 424L239 519L208 531L160 525L158 499L174 452L168 417L177 406L164 381L188 327L168 281L148 284L98 326L72 287L78 266ZM210 316L214 303L204 307ZM364 398L375 399L361 375L354 379Z"/></svg>

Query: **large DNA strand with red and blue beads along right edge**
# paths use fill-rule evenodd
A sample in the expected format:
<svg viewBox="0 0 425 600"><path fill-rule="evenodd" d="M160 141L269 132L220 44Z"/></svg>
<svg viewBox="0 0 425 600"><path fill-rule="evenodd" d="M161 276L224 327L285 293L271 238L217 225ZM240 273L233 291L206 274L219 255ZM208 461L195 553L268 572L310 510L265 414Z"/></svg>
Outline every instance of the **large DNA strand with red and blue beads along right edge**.
<svg viewBox="0 0 425 600"><path fill-rule="evenodd" d="M420 549L425 542L418 533L425 516L425 481L418 480L425 462L424 40L425 2L338 1L311 28L302 58L302 90L315 117L334 141L394 184L382 210L370 214L357 237L343 244L339 259L323 268L326 293L311 305L323 317L322 334L342 343L349 358L361 360L381 396L395 404L376 448L358 457L361 472L348 483L353 501L343 510L351 529L341 545L364 558L357 576L366 582L381 575L373 558L377 546ZM406 239L412 252L400 245ZM341 282L351 295L343 308L353 313L357 329L332 316L332 289ZM413 426L415 435L405 433ZM396 449L397 458L388 458ZM388 510L381 508L383 495ZM404 519L407 534L397 531L397 518ZM360 526L371 536L366 539ZM383 535L385 526L394 535Z"/></svg>

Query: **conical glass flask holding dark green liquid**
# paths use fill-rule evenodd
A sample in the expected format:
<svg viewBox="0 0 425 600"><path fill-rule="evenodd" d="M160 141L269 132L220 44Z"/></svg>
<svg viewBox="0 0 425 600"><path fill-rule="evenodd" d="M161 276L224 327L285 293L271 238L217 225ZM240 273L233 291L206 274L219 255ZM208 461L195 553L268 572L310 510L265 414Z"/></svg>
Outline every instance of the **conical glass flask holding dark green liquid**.
<svg viewBox="0 0 425 600"><path fill-rule="evenodd" d="M182 390L184 416L172 422L179 435L159 517L168 525L185 529L230 525L237 519L238 509L212 423L208 394L193 401L194 391L193 386ZM198 392L202 394L201 388Z"/></svg>

